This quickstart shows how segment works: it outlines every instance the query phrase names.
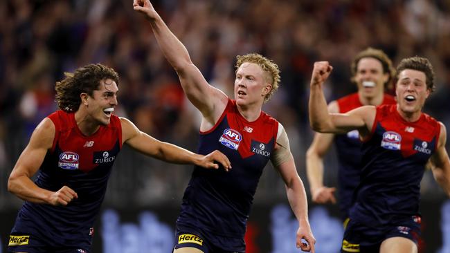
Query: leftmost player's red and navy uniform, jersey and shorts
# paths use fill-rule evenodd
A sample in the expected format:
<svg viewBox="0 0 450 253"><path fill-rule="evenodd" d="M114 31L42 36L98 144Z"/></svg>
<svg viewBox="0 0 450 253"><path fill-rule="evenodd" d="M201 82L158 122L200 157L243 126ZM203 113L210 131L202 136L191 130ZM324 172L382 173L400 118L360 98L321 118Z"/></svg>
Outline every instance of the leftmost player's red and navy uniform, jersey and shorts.
<svg viewBox="0 0 450 253"><path fill-rule="evenodd" d="M46 153L35 184L50 191L64 185L78 194L67 206L26 201L10 234L8 252L89 252L93 223L105 197L111 167L122 147L120 119L111 115L107 126L84 136L75 113L48 116L55 138Z"/></svg>

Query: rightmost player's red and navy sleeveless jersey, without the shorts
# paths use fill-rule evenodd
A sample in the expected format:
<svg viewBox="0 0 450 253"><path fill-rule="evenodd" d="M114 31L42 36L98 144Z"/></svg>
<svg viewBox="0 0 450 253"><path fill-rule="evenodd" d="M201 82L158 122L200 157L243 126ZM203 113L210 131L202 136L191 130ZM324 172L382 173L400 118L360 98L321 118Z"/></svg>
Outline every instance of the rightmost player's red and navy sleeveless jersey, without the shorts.
<svg viewBox="0 0 450 253"><path fill-rule="evenodd" d="M379 227L418 215L420 181L439 134L439 122L425 113L406 122L397 106L379 106L372 135L363 143L361 184L350 218Z"/></svg>

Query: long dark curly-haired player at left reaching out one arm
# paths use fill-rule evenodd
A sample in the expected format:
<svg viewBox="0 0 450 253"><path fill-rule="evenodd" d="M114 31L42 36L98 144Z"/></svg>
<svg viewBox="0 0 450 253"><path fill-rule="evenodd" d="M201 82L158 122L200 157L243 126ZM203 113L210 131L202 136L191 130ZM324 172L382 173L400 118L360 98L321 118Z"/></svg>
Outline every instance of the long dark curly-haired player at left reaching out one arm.
<svg viewBox="0 0 450 253"><path fill-rule="evenodd" d="M89 64L66 73L56 92L60 110L36 127L8 181L8 190L26 200L12 227L8 252L89 252L93 223L124 143L168 162L230 167L219 151L192 153L114 115L118 74L111 68Z"/></svg>

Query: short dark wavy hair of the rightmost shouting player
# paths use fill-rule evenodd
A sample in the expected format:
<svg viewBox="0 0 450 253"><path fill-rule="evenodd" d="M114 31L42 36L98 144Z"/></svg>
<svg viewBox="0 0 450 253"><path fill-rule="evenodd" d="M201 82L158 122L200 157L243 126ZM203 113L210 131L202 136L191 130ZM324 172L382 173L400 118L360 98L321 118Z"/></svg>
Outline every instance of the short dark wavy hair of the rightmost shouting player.
<svg viewBox="0 0 450 253"><path fill-rule="evenodd" d="M426 76L426 88L429 88L431 92L435 90L433 65L428 59L418 56L402 59L397 66L397 79L399 73L405 69L423 72Z"/></svg>

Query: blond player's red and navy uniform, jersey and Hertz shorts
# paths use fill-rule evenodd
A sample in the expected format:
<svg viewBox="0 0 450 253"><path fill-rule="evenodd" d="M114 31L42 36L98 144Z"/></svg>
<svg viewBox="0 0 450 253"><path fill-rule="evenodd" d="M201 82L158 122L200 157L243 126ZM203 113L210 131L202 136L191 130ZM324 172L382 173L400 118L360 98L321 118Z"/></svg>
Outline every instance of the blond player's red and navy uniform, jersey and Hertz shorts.
<svg viewBox="0 0 450 253"><path fill-rule="evenodd" d="M177 219L177 245L208 252L245 252L244 234L262 170L276 144L278 122L264 112L249 122L235 100L213 129L201 132L200 154L224 153L233 169L195 167Z"/></svg>

